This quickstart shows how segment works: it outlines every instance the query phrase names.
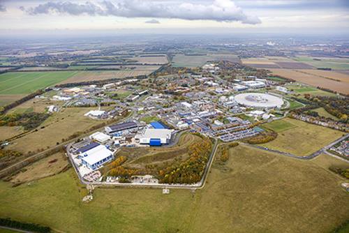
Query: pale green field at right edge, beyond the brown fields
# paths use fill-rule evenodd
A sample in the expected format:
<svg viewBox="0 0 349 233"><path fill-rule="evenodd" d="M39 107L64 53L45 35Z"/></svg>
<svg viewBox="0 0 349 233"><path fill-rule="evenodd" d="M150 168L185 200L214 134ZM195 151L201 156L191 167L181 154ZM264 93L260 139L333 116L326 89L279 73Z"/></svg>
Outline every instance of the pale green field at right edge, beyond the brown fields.
<svg viewBox="0 0 349 233"><path fill-rule="evenodd" d="M314 60L315 59L315 60ZM308 63L316 68L332 68L333 70L349 70L349 59L325 57L296 57L296 61ZM320 60L320 61L319 61Z"/></svg>

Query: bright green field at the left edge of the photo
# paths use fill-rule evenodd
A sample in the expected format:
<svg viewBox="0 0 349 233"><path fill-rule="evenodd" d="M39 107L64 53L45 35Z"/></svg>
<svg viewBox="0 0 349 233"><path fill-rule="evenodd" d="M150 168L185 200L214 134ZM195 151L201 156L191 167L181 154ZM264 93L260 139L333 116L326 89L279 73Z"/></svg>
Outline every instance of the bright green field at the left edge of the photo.
<svg viewBox="0 0 349 233"><path fill-rule="evenodd" d="M76 71L10 72L0 75L0 95L29 94L75 75Z"/></svg>

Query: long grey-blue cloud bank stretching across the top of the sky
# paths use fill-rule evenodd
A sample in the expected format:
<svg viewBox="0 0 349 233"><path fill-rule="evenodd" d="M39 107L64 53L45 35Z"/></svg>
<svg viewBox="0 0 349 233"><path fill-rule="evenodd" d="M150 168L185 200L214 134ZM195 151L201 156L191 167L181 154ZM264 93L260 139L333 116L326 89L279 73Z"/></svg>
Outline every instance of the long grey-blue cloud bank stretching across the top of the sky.
<svg viewBox="0 0 349 233"><path fill-rule="evenodd" d="M187 0L188 1L188 0ZM25 10L30 15L68 14L68 15L114 15L119 17L155 17L182 20L214 20L218 22L239 21L244 24L259 24L258 17L246 15L231 0L214 0L209 4L174 1L163 3L156 0L119 0L92 3L73 3L49 1Z"/></svg>

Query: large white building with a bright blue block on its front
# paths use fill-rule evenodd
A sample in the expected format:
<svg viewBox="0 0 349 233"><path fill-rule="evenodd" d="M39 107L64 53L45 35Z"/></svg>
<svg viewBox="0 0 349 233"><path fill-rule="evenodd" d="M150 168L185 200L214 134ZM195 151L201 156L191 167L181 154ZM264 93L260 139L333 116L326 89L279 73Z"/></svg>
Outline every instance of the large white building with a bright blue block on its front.
<svg viewBox="0 0 349 233"><path fill-rule="evenodd" d="M140 140L140 144L149 144L150 146L161 146L170 143L173 130L147 128L135 139Z"/></svg>

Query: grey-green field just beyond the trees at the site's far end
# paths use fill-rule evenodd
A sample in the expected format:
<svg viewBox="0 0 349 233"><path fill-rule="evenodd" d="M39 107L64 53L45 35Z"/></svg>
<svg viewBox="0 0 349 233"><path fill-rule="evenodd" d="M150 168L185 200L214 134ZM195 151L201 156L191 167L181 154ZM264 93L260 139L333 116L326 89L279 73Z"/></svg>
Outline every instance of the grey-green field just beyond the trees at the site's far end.
<svg viewBox="0 0 349 233"><path fill-rule="evenodd" d="M172 59L172 66L175 67L198 67L203 66L207 61L231 61L240 63L239 58L235 54L207 54L186 56L184 54L176 54Z"/></svg>

